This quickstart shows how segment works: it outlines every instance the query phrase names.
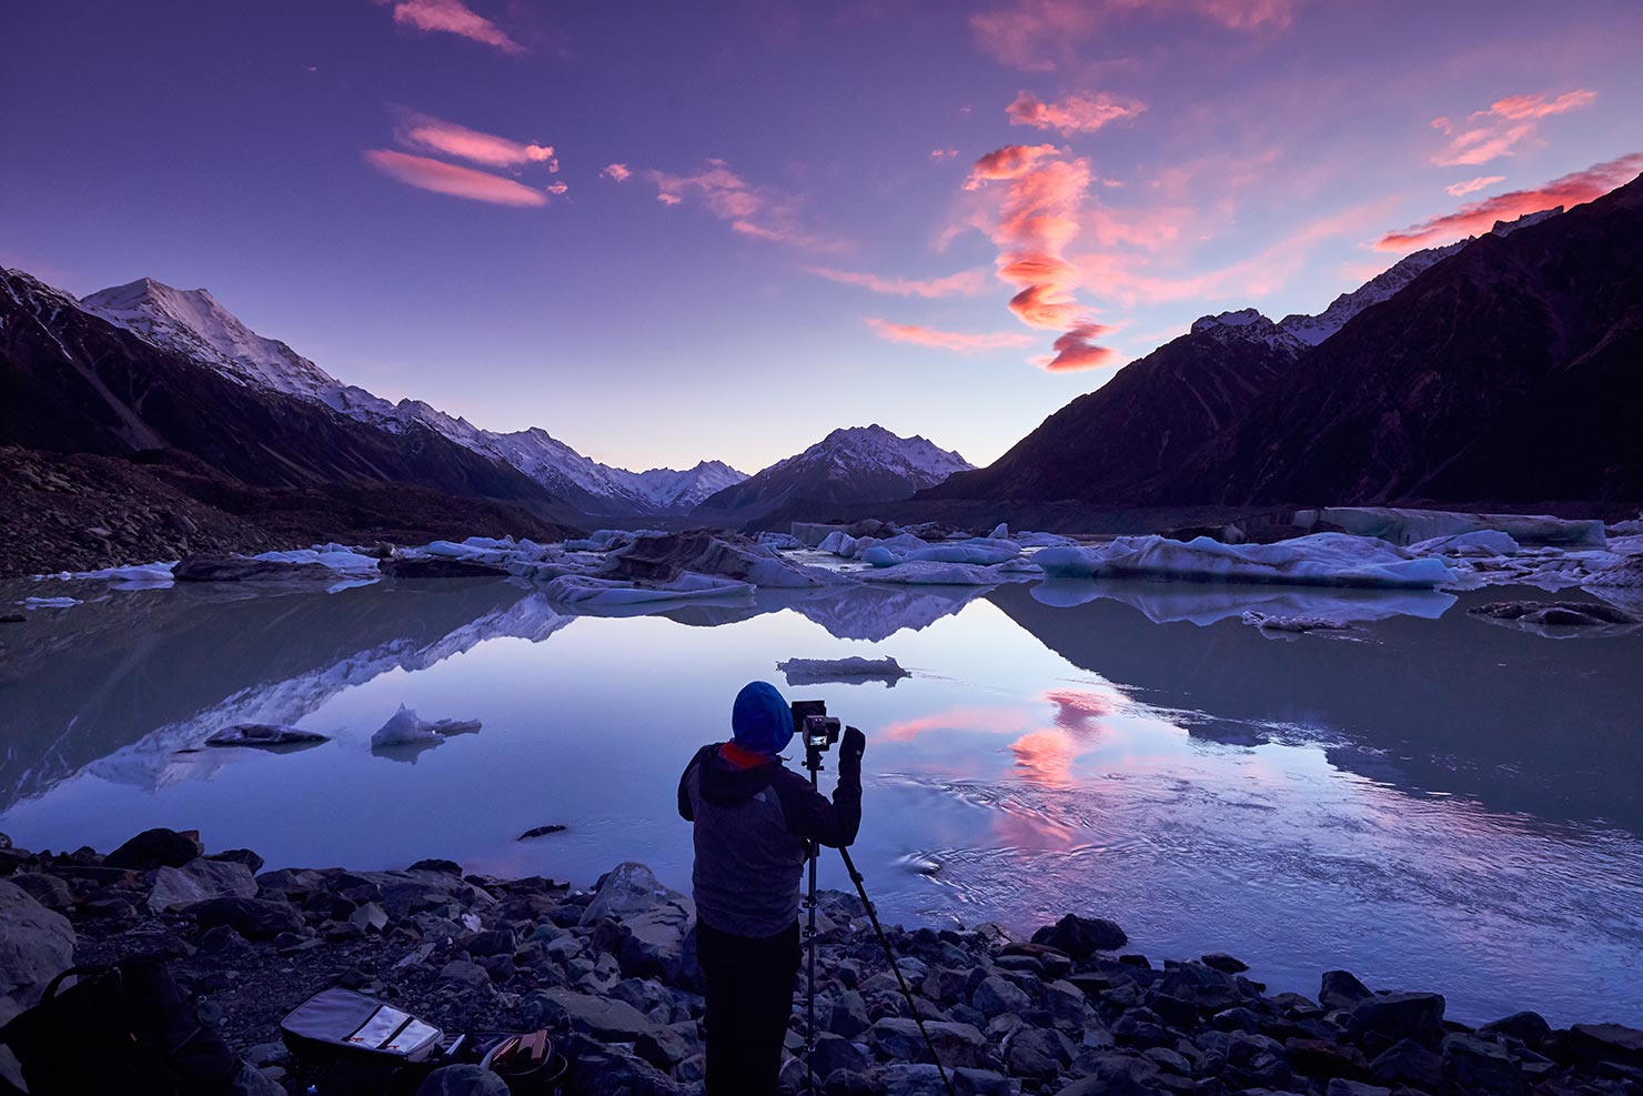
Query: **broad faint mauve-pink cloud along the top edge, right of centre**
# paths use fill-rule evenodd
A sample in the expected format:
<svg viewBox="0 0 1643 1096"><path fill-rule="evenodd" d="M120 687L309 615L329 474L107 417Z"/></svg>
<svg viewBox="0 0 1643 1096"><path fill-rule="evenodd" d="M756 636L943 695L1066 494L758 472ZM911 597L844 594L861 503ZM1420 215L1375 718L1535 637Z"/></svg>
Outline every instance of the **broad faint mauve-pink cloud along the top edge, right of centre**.
<svg viewBox="0 0 1643 1096"><path fill-rule="evenodd" d="M1109 21L1132 15L1198 15L1229 30L1282 30L1300 0L1012 0L969 16L983 49L1004 64L1043 72L1076 59Z"/></svg>

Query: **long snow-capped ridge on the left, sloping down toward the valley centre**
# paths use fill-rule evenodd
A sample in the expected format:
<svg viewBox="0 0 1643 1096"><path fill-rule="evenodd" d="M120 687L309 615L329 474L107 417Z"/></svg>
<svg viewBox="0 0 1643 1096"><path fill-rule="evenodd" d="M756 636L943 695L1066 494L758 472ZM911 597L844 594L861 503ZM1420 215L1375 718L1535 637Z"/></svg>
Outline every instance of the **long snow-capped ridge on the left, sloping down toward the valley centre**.
<svg viewBox="0 0 1643 1096"><path fill-rule="evenodd" d="M153 278L102 289L81 307L140 338L176 350L253 388L325 404L388 431L421 422L465 449L524 472L590 514L683 514L746 473L718 460L695 468L629 472L583 457L541 427L499 434L450 416L421 399L389 403L343 385L276 338L265 338L228 312L207 289L174 289Z"/></svg>

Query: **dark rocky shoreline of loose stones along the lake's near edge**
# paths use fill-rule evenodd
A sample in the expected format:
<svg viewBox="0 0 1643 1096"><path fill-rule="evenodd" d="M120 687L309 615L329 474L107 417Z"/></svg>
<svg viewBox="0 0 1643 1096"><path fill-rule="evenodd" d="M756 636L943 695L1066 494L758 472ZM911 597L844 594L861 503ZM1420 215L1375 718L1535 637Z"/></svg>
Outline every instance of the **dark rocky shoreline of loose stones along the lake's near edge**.
<svg viewBox="0 0 1643 1096"><path fill-rule="evenodd" d="M329 986L447 1032L547 1027L572 1063L568 1093L703 1091L690 900L642 864L591 889L450 861L261 868L171 830L108 854L0 836L0 1024L71 963L163 953L222 1006L242 1093L304 1091L278 1025ZM856 896L823 892L818 922L818 1091L945 1091ZM1267 996L1232 956L1153 963L1122 951L1116 923L1079 915L1030 940L997 925L889 935L958 1093L1643 1096L1643 1032L1617 1024L1554 1030L1520 1012L1474 1030L1444 1017L1441 994L1372 992L1346 971L1323 974L1316 999ZM0 1076L18 1080L3 1053ZM803 1091L805 1066L789 1057L782 1078ZM444 1080L452 1096L499 1091L472 1073Z"/></svg>

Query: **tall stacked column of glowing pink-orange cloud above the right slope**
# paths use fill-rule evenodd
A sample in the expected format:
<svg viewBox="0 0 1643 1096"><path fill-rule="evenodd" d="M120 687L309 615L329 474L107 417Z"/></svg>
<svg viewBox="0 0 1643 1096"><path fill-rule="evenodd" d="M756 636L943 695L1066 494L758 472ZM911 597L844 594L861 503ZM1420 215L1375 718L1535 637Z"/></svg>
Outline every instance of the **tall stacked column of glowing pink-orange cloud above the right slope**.
<svg viewBox="0 0 1643 1096"><path fill-rule="evenodd" d="M1001 184L989 237L999 246L999 278L1017 289L1010 312L1029 327L1063 332L1055 353L1033 361L1047 370L1091 368L1111 358L1093 342L1106 327L1078 304L1078 269L1065 258L1089 181L1088 159L1068 159L1053 145L1010 145L979 158L964 182L968 191Z"/></svg>

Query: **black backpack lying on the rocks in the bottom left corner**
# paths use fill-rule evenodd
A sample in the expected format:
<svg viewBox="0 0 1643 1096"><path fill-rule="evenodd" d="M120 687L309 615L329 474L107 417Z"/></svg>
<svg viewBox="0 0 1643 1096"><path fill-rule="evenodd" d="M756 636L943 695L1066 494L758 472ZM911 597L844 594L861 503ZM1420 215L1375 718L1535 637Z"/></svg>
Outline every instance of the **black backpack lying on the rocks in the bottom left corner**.
<svg viewBox="0 0 1643 1096"><path fill-rule="evenodd" d="M79 981L61 989L69 976ZM74 966L39 1004L0 1029L30 1096L219 1096L240 1060L217 1030L220 1011L177 988L158 956Z"/></svg>

